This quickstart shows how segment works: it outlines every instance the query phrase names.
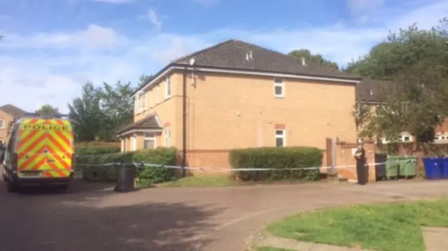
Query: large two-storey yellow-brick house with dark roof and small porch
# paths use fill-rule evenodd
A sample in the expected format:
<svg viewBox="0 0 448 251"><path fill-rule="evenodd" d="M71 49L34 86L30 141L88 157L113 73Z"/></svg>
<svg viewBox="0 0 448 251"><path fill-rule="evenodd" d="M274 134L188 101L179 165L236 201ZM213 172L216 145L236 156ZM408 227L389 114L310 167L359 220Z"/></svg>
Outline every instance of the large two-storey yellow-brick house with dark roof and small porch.
<svg viewBox="0 0 448 251"><path fill-rule="evenodd" d="M235 148L356 142L361 78L243 41L172 61L134 94L122 150L176 147L183 165L228 168Z"/></svg>

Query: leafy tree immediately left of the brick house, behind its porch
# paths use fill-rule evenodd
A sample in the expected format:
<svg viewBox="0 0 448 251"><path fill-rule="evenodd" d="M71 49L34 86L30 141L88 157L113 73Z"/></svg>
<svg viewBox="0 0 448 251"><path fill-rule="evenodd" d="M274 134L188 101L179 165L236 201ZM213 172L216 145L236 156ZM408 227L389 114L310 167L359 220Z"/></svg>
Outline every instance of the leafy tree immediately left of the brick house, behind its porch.
<svg viewBox="0 0 448 251"><path fill-rule="evenodd" d="M100 138L106 141L115 141L116 131L133 121L134 89L131 83L123 84L120 81L115 86L103 84L101 110L104 115L104 127Z"/></svg>

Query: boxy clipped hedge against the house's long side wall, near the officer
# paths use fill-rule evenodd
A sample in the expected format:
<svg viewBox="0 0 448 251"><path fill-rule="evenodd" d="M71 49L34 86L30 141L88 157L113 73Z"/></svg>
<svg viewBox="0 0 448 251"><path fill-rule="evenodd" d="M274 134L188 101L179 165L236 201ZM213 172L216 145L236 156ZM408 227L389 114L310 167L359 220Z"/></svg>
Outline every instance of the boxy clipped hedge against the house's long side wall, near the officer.
<svg viewBox="0 0 448 251"><path fill-rule="evenodd" d="M300 168L319 167L323 153L318 148L248 148L231 150L232 168ZM237 171L242 181L259 180L317 180L318 168L313 170Z"/></svg>

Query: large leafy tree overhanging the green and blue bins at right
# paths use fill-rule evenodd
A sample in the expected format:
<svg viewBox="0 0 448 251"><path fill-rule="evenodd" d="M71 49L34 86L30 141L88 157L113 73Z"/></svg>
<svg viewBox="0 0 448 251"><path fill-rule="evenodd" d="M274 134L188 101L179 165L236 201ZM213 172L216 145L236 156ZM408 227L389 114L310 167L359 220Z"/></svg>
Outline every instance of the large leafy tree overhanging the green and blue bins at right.
<svg viewBox="0 0 448 251"><path fill-rule="evenodd" d="M359 119L360 136L395 138L403 131L430 141L429 132L448 115L448 20L430 30L416 24L388 36L351 66L362 75L387 79L382 102Z"/></svg>

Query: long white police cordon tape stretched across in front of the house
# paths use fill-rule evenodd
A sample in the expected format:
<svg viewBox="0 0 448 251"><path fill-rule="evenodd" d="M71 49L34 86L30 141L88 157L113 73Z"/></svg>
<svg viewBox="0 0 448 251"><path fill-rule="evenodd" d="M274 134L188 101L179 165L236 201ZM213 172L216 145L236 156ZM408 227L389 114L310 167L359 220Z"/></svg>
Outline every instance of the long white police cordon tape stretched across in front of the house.
<svg viewBox="0 0 448 251"><path fill-rule="evenodd" d="M414 160L409 160L409 162L414 162ZM374 164L365 164L365 166L380 166L388 163L398 163L396 159L391 159L386 162L379 162ZM192 167L192 166L186 166L185 168L183 166L172 166L172 165L164 165L164 164L152 164L152 163L145 163L145 162L130 162L130 163L106 163L106 164L79 164L78 166L120 166L120 165L127 165L132 164L134 166L137 166L137 168L144 168L144 167L159 167L159 168L175 168L175 169L186 169L186 170L202 170L202 171L208 171L213 170L214 172L228 172L228 171L295 171L295 170L318 170L321 168L353 168L356 167L356 165L349 165L349 166L310 166L310 167L296 167L296 168L223 168L223 169L216 169L216 168L202 168L202 167Z"/></svg>

